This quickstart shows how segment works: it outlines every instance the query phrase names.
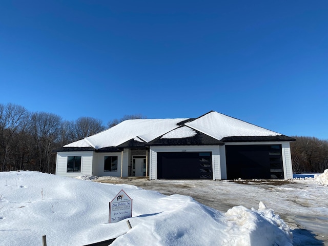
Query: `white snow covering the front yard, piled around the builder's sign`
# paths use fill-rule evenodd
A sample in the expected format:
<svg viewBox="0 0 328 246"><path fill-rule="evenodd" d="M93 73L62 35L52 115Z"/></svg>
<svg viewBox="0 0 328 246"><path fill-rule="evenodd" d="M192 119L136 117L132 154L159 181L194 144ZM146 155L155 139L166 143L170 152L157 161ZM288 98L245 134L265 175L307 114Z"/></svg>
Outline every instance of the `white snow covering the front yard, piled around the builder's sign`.
<svg viewBox="0 0 328 246"><path fill-rule="evenodd" d="M236 189L240 189L244 196L239 204L244 204L248 196L256 207L234 206L220 212L190 196L166 196L127 184L97 183L39 172L1 172L0 245L42 245L42 235L47 235L50 246L85 245L116 237L111 245L305 245L304 235L293 235L295 230L275 214L276 209L304 213L304 220L307 215L328 218L328 171L313 179L294 180L296 188L292 184L268 183L267 188L256 190L252 183L207 181L181 183L201 184L209 190L213 184L217 189L226 187L226 197L208 197L209 200L223 201L239 194ZM168 183L174 191L179 181ZM131 230L126 220L108 223L109 201L121 189L133 199ZM200 194L201 191L195 195ZM293 199L302 196L306 204L299 200L300 206L295 206ZM283 198L281 204L275 204L278 197ZM318 240L306 240L308 245L320 245Z"/></svg>

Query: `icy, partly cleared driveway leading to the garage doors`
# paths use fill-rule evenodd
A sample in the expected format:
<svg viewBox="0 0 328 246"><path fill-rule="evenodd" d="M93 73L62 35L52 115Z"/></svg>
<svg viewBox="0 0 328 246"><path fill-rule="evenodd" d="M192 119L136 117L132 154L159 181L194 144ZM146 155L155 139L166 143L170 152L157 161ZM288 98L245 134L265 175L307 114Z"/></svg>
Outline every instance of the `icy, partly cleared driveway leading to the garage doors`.
<svg viewBox="0 0 328 246"><path fill-rule="evenodd" d="M314 180L148 180L99 177L98 182L125 183L165 195L181 194L225 213L234 206L273 209L293 231L294 245L328 245L328 187Z"/></svg>

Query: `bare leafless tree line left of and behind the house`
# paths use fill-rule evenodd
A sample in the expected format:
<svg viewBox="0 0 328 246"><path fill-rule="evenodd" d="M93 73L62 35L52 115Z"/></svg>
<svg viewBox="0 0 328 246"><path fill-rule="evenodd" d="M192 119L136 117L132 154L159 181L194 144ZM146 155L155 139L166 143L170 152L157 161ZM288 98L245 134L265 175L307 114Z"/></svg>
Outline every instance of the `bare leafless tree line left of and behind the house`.
<svg viewBox="0 0 328 246"><path fill-rule="evenodd" d="M140 114L113 119L104 126L99 119L64 120L47 112L29 112L23 106L0 104L0 171L31 170L55 173L53 150L115 126Z"/></svg>

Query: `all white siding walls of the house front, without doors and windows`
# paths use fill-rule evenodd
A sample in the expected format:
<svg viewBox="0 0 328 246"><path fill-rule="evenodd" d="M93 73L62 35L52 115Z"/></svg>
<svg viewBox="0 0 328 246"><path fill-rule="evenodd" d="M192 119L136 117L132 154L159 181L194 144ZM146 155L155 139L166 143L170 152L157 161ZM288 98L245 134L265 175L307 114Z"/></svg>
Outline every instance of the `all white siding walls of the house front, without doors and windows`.
<svg viewBox="0 0 328 246"><path fill-rule="evenodd" d="M227 142L226 145L281 145L284 178L293 178L290 142ZM213 179L227 179L225 146L153 146L149 152L149 179L157 179L157 152L212 152ZM81 172L67 172L67 157L81 156ZM117 172L104 172L104 157L117 156ZM122 166L121 166L122 164ZM56 175L77 177L81 175L127 177L131 166L131 150L95 153L92 151L57 152Z"/></svg>

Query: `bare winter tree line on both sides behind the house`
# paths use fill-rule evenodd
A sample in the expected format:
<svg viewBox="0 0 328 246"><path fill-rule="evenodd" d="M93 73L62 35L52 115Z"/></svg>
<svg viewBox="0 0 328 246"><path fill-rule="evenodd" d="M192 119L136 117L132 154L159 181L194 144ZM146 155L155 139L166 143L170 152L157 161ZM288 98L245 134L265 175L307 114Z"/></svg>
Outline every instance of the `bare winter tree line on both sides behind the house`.
<svg viewBox="0 0 328 246"><path fill-rule="evenodd" d="M31 170L55 173L53 150L113 127L127 119L146 118L125 115L104 126L101 120L79 117L64 120L47 112L29 112L23 106L0 104L0 171ZM328 140L294 136L291 142L293 171L321 173L328 169Z"/></svg>

